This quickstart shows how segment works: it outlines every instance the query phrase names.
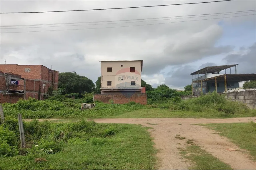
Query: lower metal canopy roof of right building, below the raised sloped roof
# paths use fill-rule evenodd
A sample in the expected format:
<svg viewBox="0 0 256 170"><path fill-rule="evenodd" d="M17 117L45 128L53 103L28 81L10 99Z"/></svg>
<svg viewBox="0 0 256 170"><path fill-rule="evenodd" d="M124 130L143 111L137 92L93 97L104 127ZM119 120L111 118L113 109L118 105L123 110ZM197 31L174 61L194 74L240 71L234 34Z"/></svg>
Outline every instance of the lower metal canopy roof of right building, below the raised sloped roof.
<svg viewBox="0 0 256 170"><path fill-rule="evenodd" d="M249 81L249 80L256 80L256 74L222 74L215 76L217 82L224 82L225 81L225 75L227 81ZM202 79L202 82L215 82L215 77ZM192 83L201 82L201 80L192 81Z"/></svg>

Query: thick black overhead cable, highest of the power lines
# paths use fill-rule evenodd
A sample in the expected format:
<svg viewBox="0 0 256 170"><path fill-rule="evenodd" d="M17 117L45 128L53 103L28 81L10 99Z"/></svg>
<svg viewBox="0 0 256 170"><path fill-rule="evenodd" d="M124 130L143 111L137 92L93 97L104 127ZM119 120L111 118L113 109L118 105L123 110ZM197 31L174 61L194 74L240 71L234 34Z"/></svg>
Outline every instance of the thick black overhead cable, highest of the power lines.
<svg viewBox="0 0 256 170"><path fill-rule="evenodd" d="M130 9L130 8L146 8L146 7L157 7L157 6L174 6L174 5L188 5L188 4L205 4L205 3L224 2L224 1L234 1L234 0L208 1L208 2L193 2L193 3L184 3L184 4L166 4L166 5L152 5L152 6L133 6L133 7L122 7L122 8L81 9L81 10L67 10L67 11L40 11L40 12L1 12L1 13L49 13L49 12L99 11L99 10L109 10L109 9Z"/></svg>

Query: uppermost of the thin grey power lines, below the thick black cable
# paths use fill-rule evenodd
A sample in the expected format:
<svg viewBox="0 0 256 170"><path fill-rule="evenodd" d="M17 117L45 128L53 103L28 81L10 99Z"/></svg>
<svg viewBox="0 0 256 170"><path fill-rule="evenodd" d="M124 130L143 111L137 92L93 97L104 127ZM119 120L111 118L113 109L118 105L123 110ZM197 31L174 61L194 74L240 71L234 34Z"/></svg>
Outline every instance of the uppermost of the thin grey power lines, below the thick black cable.
<svg viewBox="0 0 256 170"><path fill-rule="evenodd" d="M186 16L203 16L203 15L226 14L226 13L238 14L240 12L253 12L253 11L256 11L256 10L254 9L254 10L222 12L222 13L206 13L206 14L183 15L183 16L167 16L167 17L157 17L157 18L139 18L139 19L129 19L129 20L89 21L89 22L73 22L73 23L47 23L47 24L9 25L9 26L4 25L4 26L0 26L0 27L45 26L45 25L80 24L80 23L105 23L105 22L119 22L119 21L138 21L138 20L148 20L148 19L175 18L175 17L186 17ZM230 15L230 14L228 14L228 15ZM177 19L179 19L179 18L177 18ZM4 28L2 28L2 29L4 29Z"/></svg>

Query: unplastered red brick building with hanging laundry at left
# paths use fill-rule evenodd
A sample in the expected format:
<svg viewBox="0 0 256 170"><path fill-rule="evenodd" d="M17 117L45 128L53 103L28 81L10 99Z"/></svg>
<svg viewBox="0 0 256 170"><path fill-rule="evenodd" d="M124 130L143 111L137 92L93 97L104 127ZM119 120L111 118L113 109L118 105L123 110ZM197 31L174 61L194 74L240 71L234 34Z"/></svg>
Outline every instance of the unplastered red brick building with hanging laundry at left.
<svg viewBox="0 0 256 170"><path fill-rule="evenodd" d="M43 100L58 87L59 72L43 65L1 64L0 76L0 103L16 103L20 98Z"/></svg>

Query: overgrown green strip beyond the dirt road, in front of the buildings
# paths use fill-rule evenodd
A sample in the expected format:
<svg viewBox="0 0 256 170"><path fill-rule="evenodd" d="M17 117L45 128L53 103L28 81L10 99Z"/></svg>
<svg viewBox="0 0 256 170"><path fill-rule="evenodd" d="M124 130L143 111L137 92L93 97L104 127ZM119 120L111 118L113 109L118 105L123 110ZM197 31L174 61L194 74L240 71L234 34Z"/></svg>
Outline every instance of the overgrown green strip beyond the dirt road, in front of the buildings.
<svg viewBox="0 0 256 170"><path fill-rule="evenodd" d="M17 118L235 118L254 117L255 109L245 104L227 101L224 96L211 93L191 100L169 101L141 105L133 101L126 104L95 102L92 109L81 110L82 99L19 100L15 104L4 103L4 115Z"/></svg>

